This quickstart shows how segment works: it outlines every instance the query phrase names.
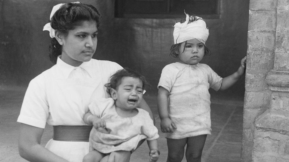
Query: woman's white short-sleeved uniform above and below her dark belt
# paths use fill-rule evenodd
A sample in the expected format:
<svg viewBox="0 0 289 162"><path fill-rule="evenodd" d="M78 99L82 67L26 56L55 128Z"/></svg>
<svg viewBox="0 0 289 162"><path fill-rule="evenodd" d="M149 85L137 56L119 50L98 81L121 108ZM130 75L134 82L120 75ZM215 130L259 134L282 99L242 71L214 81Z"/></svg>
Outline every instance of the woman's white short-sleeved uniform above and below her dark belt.
<svg viewBox="0 0 289 162"><path fill-rule="evenodd" d="M57 58L57 64L29 83L17 122L45 128L49 125L86 125L84 114L91 98L107 97L104 84L122 67L111 61L91 59L73 67ZM82 161L89 142L50 140L45 146L72 162Z"/></svg>

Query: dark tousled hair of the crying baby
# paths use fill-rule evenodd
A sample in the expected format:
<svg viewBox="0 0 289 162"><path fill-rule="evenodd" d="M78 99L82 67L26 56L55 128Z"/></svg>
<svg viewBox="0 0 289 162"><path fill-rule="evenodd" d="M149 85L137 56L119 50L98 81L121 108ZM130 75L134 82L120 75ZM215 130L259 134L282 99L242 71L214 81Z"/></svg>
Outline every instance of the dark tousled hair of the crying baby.
<svg viewBox="0 0 289 162"><path fill-rule="evenodd" d="M110 82L104 85L107 88L106 89L107 93L110 95L111 88L117 90L118 86L121 84L121 79L126 76L138 78L139 80L141 80L142 89L144 89L144 87L148 85L148 82L146 81L144 76L142 76L141 74L137 73L134 70L131 70L129 68L124 68L124 69L118 70L116 73L110 76Z"/></svg>

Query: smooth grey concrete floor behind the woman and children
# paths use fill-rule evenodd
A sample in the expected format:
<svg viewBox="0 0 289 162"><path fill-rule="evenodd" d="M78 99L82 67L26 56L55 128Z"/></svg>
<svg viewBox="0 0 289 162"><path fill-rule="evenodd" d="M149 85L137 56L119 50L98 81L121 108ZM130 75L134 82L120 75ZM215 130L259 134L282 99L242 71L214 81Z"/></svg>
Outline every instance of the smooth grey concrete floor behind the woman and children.
<svg viewBox="0 0 289 162"><path fill-rule="evenodd" d="M20 112L26 88L0 87L0 161L26 161L18 154L18 128L16 122ZM160 130L160 118L157 113L156 96L144 96L151 107L156 119L156 126ZM204 146L203 162L239 162L241 154L241 134L243 123L243 102L241 100L216 99L212 97L211 121L212 135L207 136ZM160 162L166 161L167 146L164 134L159 131L158 139ZM42 137L42 145L52 137L52 127L47 126ZM132 162L148 161L148 146L143 143L131 156ZM183 161L186 161L185 158Z"/></svg>

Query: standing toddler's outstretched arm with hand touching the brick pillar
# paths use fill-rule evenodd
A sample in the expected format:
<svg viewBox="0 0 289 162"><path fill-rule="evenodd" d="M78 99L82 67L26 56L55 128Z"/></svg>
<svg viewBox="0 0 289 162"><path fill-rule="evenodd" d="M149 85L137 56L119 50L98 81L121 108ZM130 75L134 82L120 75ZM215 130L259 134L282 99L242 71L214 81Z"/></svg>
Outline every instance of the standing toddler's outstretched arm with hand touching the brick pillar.
<svg viewBox="0 0 289 162"><path fill-rule="evenodd" d="M228 89L239 80L240 76L244 74L246 67L246 58L247 58L246 56L242 58L241 65L235 73L223 78L220 90Z"/></svg>

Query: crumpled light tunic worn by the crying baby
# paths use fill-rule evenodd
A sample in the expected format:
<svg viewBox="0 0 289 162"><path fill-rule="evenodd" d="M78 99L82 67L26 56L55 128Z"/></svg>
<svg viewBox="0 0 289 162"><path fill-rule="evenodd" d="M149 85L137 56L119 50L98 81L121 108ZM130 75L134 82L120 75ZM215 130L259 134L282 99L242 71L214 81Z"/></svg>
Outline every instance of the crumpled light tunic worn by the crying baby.
<svg viewBox="0 0 289 162"><path fill-rule="evenodd" d="M98 118L104 119L105 128L92 128L89 136L91 150L102 153L114 151L132 151L138 142L147 139L159 138L157 127L149 113L139 109L138 114L132 117L121 117L117 114L112 98L97 99L89 105L90 112Z"/></svg>

